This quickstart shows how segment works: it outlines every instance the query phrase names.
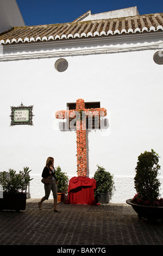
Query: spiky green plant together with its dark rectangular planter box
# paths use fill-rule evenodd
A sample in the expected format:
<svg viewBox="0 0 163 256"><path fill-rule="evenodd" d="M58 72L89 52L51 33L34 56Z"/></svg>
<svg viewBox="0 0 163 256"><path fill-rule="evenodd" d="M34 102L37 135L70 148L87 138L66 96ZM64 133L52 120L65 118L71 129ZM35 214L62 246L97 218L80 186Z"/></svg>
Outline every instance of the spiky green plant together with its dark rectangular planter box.
<svg viewBox="0 0 163 256"><path fill-rule="evenodd" d="M28 167L18 174L14 169L9 172L0 173L0 184L3 189L2 198L0 198L0 210L26 210L27 184L29 183Z"/></svg>

